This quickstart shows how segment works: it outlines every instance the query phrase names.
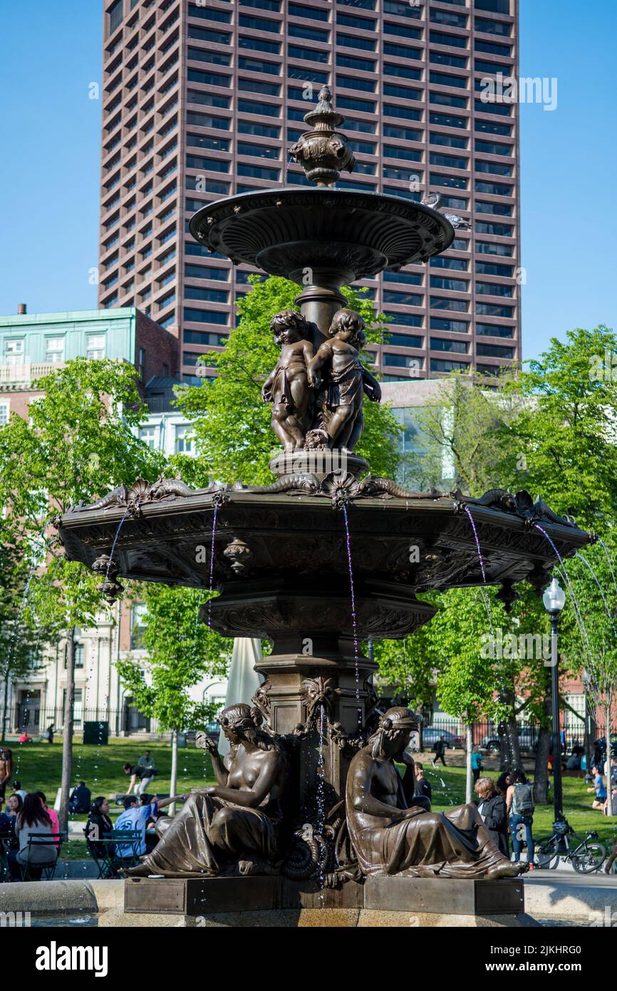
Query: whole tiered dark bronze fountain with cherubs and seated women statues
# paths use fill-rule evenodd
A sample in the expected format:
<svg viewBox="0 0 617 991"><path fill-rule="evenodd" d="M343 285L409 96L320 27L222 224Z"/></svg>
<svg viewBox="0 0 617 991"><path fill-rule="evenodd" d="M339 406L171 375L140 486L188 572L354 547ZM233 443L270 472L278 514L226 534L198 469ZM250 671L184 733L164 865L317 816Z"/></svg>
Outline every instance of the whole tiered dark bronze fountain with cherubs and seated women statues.
<svg viewBox="0 0 617 991"><path fill-rule="evenodd" d="M191 490L138 480L59 521L66 555L105 577L108 598L122 593L119 578L216 588L204 622L272 643L256 665L264 682L253 707L221 716L240 755L232 773L202 737L219 784L188 799L127 879L125 905L173 903L208 918L299 908L320 909L324 920L341 908L514 918L522 881L469 807L378 819L405 808L393 758L414 718L375 709L376 665L360 643L428 622L435 608L417 594L429 590L498 585L506 607L518 582L541 594L551 569L590 538L526 492L412 492L372 477L354 454L362 393L378 401L380 391L360 363L362 321L341 288L428 261L454 229L424 203L332 188L354 158L331 100L324 87L305 117L312 130L291 150L315 186L221 199L190 223L211 251L301 286L299 313L272 314L281 351L262 394L282 452L271 485ZM208 555L196 553L210 535ZM376 819L375 776L388 803L377 802ZM431 844L439 863L426 853ZM244 920L257 924L251 913Z"/></svg>

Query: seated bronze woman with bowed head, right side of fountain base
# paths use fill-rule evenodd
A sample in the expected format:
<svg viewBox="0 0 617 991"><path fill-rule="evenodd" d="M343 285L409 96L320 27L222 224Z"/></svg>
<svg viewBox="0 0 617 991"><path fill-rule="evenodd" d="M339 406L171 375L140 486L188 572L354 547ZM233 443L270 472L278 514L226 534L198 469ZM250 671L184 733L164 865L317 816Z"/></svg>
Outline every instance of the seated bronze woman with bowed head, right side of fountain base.
<svg viewBox="0 0 617 991"><path fill-rule="evenodd" d="M514 877L520 865L499 852L475 806L427 812L426 799L408 808L394 766L417 728L408 709L389 709L347 779L347 823L363 874L407 877Z"/></svg>

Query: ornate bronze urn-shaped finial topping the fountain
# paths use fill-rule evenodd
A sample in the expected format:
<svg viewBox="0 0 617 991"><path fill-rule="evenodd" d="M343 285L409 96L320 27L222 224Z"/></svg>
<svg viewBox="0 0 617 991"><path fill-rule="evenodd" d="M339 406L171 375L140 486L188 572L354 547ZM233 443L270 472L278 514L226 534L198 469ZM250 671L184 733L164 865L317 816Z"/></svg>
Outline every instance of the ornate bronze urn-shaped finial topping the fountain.
<svg viewBox="0 0 617 991"><path fill-rule="evenodd" d="M304 120L313 130L303 134L289 149L289 154L302 165L310 182L318 186L332 185L344 168L353 171L356 159L346 136L336 130L345 122L345 117L332 106L329 86L322 86L317 106L305 114Z"/></svg>

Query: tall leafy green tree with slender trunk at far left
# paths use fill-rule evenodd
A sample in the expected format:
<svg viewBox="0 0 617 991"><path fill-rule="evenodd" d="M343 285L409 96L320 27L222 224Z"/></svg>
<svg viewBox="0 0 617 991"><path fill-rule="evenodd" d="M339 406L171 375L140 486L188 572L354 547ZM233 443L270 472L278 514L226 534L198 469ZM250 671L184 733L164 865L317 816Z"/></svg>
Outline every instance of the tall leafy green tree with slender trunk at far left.
<svg viewBox="0 0 617 991"><path fill-rule="evenodd" d="M93 625L101 604L98 580L66 559L49 524L71 505L140 476L154 481L162 469L162 455L134 433L147 412L137 379L125 363L74 359L35 384L43 394L31 402L28 420L13 413L0 430L0 502L11 538L36 546L45 562L32 572L23 615L33 628L43 624L67 640L62 829L72 766L75 627Z"/></svg>

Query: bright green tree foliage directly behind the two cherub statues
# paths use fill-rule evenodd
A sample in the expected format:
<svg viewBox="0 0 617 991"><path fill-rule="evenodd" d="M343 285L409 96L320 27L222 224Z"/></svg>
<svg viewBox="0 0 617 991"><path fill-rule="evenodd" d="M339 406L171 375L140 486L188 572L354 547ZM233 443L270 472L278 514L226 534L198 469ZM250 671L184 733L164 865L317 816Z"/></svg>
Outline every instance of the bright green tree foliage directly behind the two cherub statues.
<svg viewBox="0 0 617 991"><path fill-rule="evenodd" d="M253 288L238 303L240 323L222 352L205 356L219 376L201 386L179 390L178 407L192 421L199 458L209 476L230 484L264 485L272 480L268 461L278 453L270 429L270 406L260 389L276 365L279 351L269 323L282 309L295 307L298 286L285 278L251 278ZM345 288L349 304L366 323L366 336L380 342L383 328L372 303L353 288ZM395 439L400 427L382 404L364 403L364 432L358 454L370 462L373 475L392 477L396 470Z"/></svg>

